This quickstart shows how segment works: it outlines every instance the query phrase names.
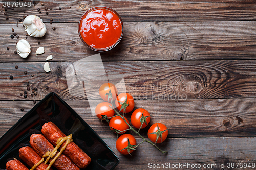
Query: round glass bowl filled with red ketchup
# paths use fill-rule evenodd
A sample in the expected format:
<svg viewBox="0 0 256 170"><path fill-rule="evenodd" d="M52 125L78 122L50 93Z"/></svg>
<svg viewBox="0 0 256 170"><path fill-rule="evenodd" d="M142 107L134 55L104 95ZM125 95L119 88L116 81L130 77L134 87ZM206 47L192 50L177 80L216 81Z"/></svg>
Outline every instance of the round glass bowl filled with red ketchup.
<svg viewBox="0 0 256 170"><path fill-rule="evenodd" d="M82 15L79 36L92 50L103 52L114 48L123 36L123 22L118 13L108 7L94 7Z"/></svg>

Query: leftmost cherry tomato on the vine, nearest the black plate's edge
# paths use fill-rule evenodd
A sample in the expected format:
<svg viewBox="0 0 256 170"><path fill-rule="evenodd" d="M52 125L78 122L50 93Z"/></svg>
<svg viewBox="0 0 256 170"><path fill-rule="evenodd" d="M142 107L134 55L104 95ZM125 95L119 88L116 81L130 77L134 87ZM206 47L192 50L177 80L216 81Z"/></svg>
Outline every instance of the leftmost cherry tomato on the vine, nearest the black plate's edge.
<svg viewBox="0 0 256 170"><path fill-rule="evenodd" d="M101 119L102 115L106 115L107 117L112 117L115 114L115 111L111 108L112 105L109 102L99 103L95 108L96 116Z"/></svg>

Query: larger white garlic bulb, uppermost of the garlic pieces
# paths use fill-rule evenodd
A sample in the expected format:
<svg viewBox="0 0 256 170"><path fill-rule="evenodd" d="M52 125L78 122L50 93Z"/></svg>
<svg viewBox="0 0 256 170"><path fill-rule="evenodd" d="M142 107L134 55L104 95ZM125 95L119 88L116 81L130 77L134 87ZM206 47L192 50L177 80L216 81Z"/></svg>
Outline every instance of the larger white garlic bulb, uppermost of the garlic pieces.
<svg viewBox="0 0 256 170"><path fill-rule="evenodd" d="M27 16L23 21L23 25L30 36L42 37L46 34L46 25L36 15Z"/></svg>

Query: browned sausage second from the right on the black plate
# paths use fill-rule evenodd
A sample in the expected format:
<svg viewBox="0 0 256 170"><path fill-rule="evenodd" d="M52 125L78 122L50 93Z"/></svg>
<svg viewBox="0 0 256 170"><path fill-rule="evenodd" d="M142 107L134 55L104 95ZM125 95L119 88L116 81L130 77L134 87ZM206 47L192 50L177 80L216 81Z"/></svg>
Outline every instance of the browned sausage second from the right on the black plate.
<svg viewBox="0 0 256 170"><path fill-rule="evenodd" d="M41 134L33 134L29 141L31 147L42 157L47 151L53 151L53 145ZM56 155L59 152L56 153ZM52 159L49 160L51 162ZM79 168L71 162L69 158L61 154L53 163L58 170L79 170Z"/></svg>

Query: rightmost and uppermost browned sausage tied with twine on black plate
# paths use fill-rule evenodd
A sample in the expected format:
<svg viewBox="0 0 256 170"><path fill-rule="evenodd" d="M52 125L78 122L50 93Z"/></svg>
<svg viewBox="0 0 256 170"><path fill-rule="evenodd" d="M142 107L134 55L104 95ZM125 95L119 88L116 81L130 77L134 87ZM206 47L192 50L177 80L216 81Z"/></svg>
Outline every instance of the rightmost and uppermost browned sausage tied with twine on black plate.
<svg viewBox="0 0 256 170"><path fill-rule="evenodd" d="M52 122L45 123L42 126L42 134L54 145L60 137L66 137L60 129ZM61 145L60 149L63 147L65 142ZM78 147L74 142L71 142L67 145L66 149L63 151L73 163L75 163L79 168L86 168L90 162L91 158L83 152L81 148Z"/></svg>

